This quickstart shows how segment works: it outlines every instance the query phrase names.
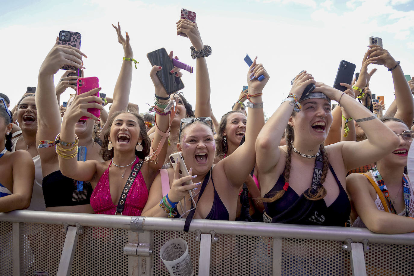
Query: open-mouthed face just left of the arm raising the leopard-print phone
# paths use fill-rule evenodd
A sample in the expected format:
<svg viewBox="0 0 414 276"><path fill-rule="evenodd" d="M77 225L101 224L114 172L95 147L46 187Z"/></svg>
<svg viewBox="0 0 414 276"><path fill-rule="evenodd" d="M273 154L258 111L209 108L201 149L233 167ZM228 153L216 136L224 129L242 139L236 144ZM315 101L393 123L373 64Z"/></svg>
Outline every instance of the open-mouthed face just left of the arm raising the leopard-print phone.
<svg viewBox="0 0 414 276"><path fill-rule="evenodd" d="M37 109L33 96L28 96L20 101L17 120L23 131L37 131Z"/></svg>

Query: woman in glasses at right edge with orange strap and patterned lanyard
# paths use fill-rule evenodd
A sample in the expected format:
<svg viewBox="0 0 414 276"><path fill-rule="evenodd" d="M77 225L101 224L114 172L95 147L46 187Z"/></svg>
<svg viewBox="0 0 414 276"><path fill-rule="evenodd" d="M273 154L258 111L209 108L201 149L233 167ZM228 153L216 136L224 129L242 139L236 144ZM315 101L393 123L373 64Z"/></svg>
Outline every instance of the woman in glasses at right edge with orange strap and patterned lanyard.
<svg viewBox="0 0 414 276"><path fill-rule="evenodd" d="M352 227L367 227L385 234L412 232L414 194L412 184L404 174L404 166L414 131L408 130L400 119L383 117L380 120L400 137L400 144L378 160L377 166L368 173L348 175L347 190L354 207Z"/></svg>

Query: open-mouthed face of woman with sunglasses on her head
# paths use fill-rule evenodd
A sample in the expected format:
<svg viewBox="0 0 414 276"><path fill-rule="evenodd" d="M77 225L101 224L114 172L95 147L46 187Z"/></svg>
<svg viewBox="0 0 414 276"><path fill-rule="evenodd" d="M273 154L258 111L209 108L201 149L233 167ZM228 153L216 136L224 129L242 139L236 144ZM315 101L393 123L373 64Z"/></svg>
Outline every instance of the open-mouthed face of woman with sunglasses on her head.
<svg viewBox="0 0 414 276"><path fill-rule="evenodd" d="M177 144L187 168L193 168L193 175L206 173L213 166L216 151L211 127L200 122L193 122L181 133Z"/></svg>

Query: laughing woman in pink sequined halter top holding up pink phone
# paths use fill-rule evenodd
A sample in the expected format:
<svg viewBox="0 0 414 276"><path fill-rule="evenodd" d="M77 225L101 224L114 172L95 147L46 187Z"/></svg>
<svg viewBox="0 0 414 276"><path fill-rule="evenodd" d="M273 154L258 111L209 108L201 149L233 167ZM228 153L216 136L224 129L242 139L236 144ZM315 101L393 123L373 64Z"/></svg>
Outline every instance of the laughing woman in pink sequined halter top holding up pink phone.
<svg viewBox="0 0 414 276"><path fill-rule="evenodd" d="M156 97L165 98L168 95L156 77L156 72L159 70L161 67L152 67L150 77L155 86ZM178 68L174 67L173 71L181 76ZM93 96L99 90L100 88L92 89L76 96L76 114L63 118L62 132L58 138L65 142L66 146L58 144L56 148L59 151L60 171L69 178L91 182L94 189L91 206L95 213L140 216L147 202L148 190L155 173L162 166L162 162L157 163L152 160L150 163L143 163L143 159L149 154L150 147L156 152L159 160L165 159L168 140L165 139L164 144L161 144L161 151L158 148L163 138L168 137L170 116L158 110L155 115L157 131L151 144L144 120L140 115L128 111L112 114L114 108L111 108L111 115L101 134L103 136L101 156L104 161L94 159L76 161L73 158L77 151L75 125L82 116L99 120L87 112L87 108L103 108L101 98ZM128 98L129 90L123 95L125 109Z"/></svg>

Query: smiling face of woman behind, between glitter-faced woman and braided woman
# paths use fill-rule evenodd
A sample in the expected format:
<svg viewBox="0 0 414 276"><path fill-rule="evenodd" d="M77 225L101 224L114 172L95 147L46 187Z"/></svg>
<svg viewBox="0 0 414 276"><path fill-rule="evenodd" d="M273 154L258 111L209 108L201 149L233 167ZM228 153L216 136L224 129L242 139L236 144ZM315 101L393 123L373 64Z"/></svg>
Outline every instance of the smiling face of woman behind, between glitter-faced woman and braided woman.
<svg viewBox="0 0 414 276"><path fill-rule="evenodd" d="M223 131L227 141L239 145L246 134L246 123L246 115L239 112L230 113L226 118L226 127Z"/></svg>

